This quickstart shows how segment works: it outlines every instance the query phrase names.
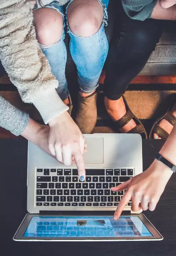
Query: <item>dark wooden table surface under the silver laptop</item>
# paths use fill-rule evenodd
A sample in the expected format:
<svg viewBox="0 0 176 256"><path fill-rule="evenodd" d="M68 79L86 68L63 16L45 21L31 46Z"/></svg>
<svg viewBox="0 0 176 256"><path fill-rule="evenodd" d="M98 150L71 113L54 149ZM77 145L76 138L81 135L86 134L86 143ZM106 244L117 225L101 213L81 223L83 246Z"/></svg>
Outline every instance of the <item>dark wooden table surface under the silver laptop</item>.
<svg viewBox="0 0 176 256"><path fill-rule="evenodd" d="M144 140L146 170L164 141ZM154 149L151 144L153 144ZM172 175L154 212L145 215L163 235L162 241L147 242L15 242L13 235L27 213L27 141L0 140L1 235L7 234L5 256L176 256L176 175ZM5 205L6 208L3 206ZM4 210L5 209L5 210ZM3 219L6 219L6 222Z"/></svg>

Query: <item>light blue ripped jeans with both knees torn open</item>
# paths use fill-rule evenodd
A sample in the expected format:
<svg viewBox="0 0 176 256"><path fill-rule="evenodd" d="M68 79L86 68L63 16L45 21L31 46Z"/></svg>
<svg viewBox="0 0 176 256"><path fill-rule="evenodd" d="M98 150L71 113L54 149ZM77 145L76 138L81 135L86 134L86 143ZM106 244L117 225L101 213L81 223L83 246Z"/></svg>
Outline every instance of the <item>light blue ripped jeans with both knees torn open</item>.
<svg viewBox="0 0 176 256"><path fill-rule="evenodd" d="M67 8L72 1L74 0L69 1ZM93 34L91 37L79 37L72 33L67 22L68 33L70 35L70 54L77 67L80 91L85 93L92 92L98 87L98 79L101 75L109 49L108 40L104 32L104 25L107 24L106 8L109 0L97 1L99 1L104 8L104 19L96 34ZM39 8L39 6L35 5L34 10L37 8ZM64 8L59 5L57 1L52 1L48 5L45 5L44 8L54 8L62 14L64 20ZM67 51L64 42L64 27L65 24L63 26L62 37L59 42L50 46L40 44L42 52L49 60L52 73L59 82L59 86L56 90L62 100L67 99L69 96L67 80L65 77Z"/></svg>

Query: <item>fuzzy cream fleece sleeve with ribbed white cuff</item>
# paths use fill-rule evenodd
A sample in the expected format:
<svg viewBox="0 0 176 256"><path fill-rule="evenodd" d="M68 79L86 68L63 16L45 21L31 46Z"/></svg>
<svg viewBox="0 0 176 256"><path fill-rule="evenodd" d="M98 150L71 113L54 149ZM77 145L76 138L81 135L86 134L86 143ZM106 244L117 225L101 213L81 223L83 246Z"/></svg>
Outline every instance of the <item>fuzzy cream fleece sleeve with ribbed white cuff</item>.
<svg viewBox="0 0 176 256"><path fill-rule="evenodd" d="M23 101L33 103L48 123L68 107L36 40L33 6L29 0L0 0L0 60Z"/></svg>

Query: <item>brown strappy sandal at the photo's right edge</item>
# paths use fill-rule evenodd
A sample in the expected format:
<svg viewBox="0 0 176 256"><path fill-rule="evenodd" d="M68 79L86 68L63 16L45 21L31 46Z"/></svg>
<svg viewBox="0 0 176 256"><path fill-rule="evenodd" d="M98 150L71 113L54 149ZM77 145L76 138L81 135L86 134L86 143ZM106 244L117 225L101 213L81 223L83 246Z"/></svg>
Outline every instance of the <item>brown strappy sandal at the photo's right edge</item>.
<svg viewBox="0 0 176 256"><path fill-rule="evenodd" d="M172 99L171 99L172 96ZM158 134L162 139L167 139L169 134L158 124L162 119L166 119L171 125L176 124L176 117L171 113L173 105L176 104L176 94L169 95L166 101L160 106L158 118L150 131L149 138L153 138L153 133Z"/></svg>

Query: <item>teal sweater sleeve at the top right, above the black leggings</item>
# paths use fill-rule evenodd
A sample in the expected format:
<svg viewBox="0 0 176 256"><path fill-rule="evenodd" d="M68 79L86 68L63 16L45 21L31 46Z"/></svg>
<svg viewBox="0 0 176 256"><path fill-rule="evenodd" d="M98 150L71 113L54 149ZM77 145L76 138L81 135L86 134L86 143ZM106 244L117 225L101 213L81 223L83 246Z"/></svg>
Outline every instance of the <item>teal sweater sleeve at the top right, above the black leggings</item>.
<svg viewBox="0 0 176 256"><path fill-rule="evenodd" d="M151 18L153 8L158 0L121 0L125 13L135 20L144 21Z"/></svg>

